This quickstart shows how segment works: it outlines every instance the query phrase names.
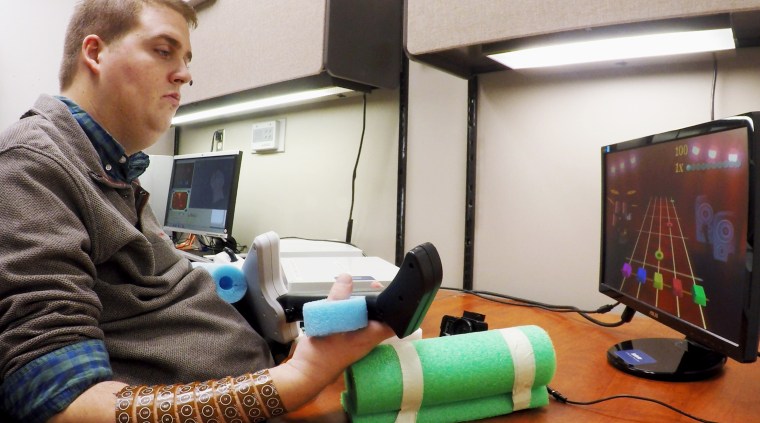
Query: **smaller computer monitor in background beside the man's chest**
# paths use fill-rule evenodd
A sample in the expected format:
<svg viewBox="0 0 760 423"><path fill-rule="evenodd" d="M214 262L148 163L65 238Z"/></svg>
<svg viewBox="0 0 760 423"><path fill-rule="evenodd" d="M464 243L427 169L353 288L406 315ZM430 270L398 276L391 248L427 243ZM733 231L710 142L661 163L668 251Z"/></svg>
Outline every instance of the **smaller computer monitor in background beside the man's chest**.
<svg viewBox="0 0 760 423"><path fill-rule="evenodd" d="M164 229L231 237L242 158L242 151L174 156Z"/></svg>

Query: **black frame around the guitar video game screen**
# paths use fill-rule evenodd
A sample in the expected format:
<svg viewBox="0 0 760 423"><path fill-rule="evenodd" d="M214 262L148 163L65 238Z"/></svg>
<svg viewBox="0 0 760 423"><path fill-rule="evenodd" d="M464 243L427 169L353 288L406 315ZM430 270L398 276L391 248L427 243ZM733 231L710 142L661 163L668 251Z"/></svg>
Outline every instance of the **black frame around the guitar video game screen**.
<svg viewBox="0 0 760 423"><path fill-rule="evenodd" d="M612 286L605 284L605 236L606 236L606 213L607 213L607 201L606 201L606 161L607 154L618 151L625 151L634 148L642 148L646 145L659 144L663 142L672 142L693 138L695 136L706 135L710 133L717 133L728 131L732 129L745 128L747 131L748 141L748 155L749 155L749 201L747 211L748 216L748 233L747 243L748 248L753 249L753 242L756 239L760 239L758 234L757 222L760 222L760 208L756 207L757 200L760 198L760 184L756 183L760 177L758 172L758 160L760 160L760 134L758 134L755 128L757 123L760 123L760 112L750 112L742 115L737 115L729 118L723 118L719 120L709 121L702 124L689 126L673 131L667 131L655 135L650 135L642 138L628 140L616 144L606 145L601 148L601 182L602 182L602 209L601 209L601 242L600 242L600 275L599 275L599 292L611 297L612 299L619 301L627 307L634 309L635 311L644 314L659 323L672 328L673 330L683 334L687 339L694 341L698 344L704 345L714 351L717 351L725 356L738 361L738 362L753 362L758 357L758 332L760 331L760 255L752 254L751 263L752 269L758 269L757 272L747 271L747 282L744 284L744 290L742 293L742 303L744 307L742 310L737 311L741 313L741 331L738 345L733 345L728 340L723 340L719 335L713 334L707 330L692 325L685 320L679 319L677 316L671 315L653 305L637 300L636 298L619 291Z"/></svg>

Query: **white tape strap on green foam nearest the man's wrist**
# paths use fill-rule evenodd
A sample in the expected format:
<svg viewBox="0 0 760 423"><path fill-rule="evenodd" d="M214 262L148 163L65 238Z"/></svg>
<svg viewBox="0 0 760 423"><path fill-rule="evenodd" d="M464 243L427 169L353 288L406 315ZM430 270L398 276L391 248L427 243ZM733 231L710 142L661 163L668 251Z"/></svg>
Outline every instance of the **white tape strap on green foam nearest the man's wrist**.
<svg viewBox="0 0 760 423"><path fill-rule="evenodd" d="M422 391L425 383L422 378L422 362L412 342L402 341L391 344L401 363L401 410L396 416L396 423L414 423L417 412L422 405Z"/></svg>

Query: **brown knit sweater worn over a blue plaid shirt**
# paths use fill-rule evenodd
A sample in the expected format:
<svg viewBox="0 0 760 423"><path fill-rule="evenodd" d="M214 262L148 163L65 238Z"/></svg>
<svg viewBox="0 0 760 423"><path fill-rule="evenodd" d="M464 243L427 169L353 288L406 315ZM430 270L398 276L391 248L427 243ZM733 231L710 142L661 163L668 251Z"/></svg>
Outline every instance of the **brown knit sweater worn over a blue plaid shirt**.
<svg viewBox="0 0 760 423"><path fill-rule="evenodd" d="M0 383L102 339L114 379L192 382L269 367L266 343L192 270L136 183L109 180L66 105L0 133Z"/></svg>

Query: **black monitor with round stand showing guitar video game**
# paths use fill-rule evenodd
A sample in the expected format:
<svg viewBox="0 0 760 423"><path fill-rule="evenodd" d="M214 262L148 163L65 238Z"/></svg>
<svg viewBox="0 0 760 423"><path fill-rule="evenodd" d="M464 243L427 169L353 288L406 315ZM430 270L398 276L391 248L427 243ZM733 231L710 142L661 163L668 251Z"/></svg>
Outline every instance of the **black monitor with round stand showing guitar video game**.
<svg viewBox="0 0 760 423"><path fill-rule="evenodd" d="M696 380L720 373L726 357L757 359L758 118L602 147L599 290L685 335L614 345L612 365L650 379Z"/></svg>

